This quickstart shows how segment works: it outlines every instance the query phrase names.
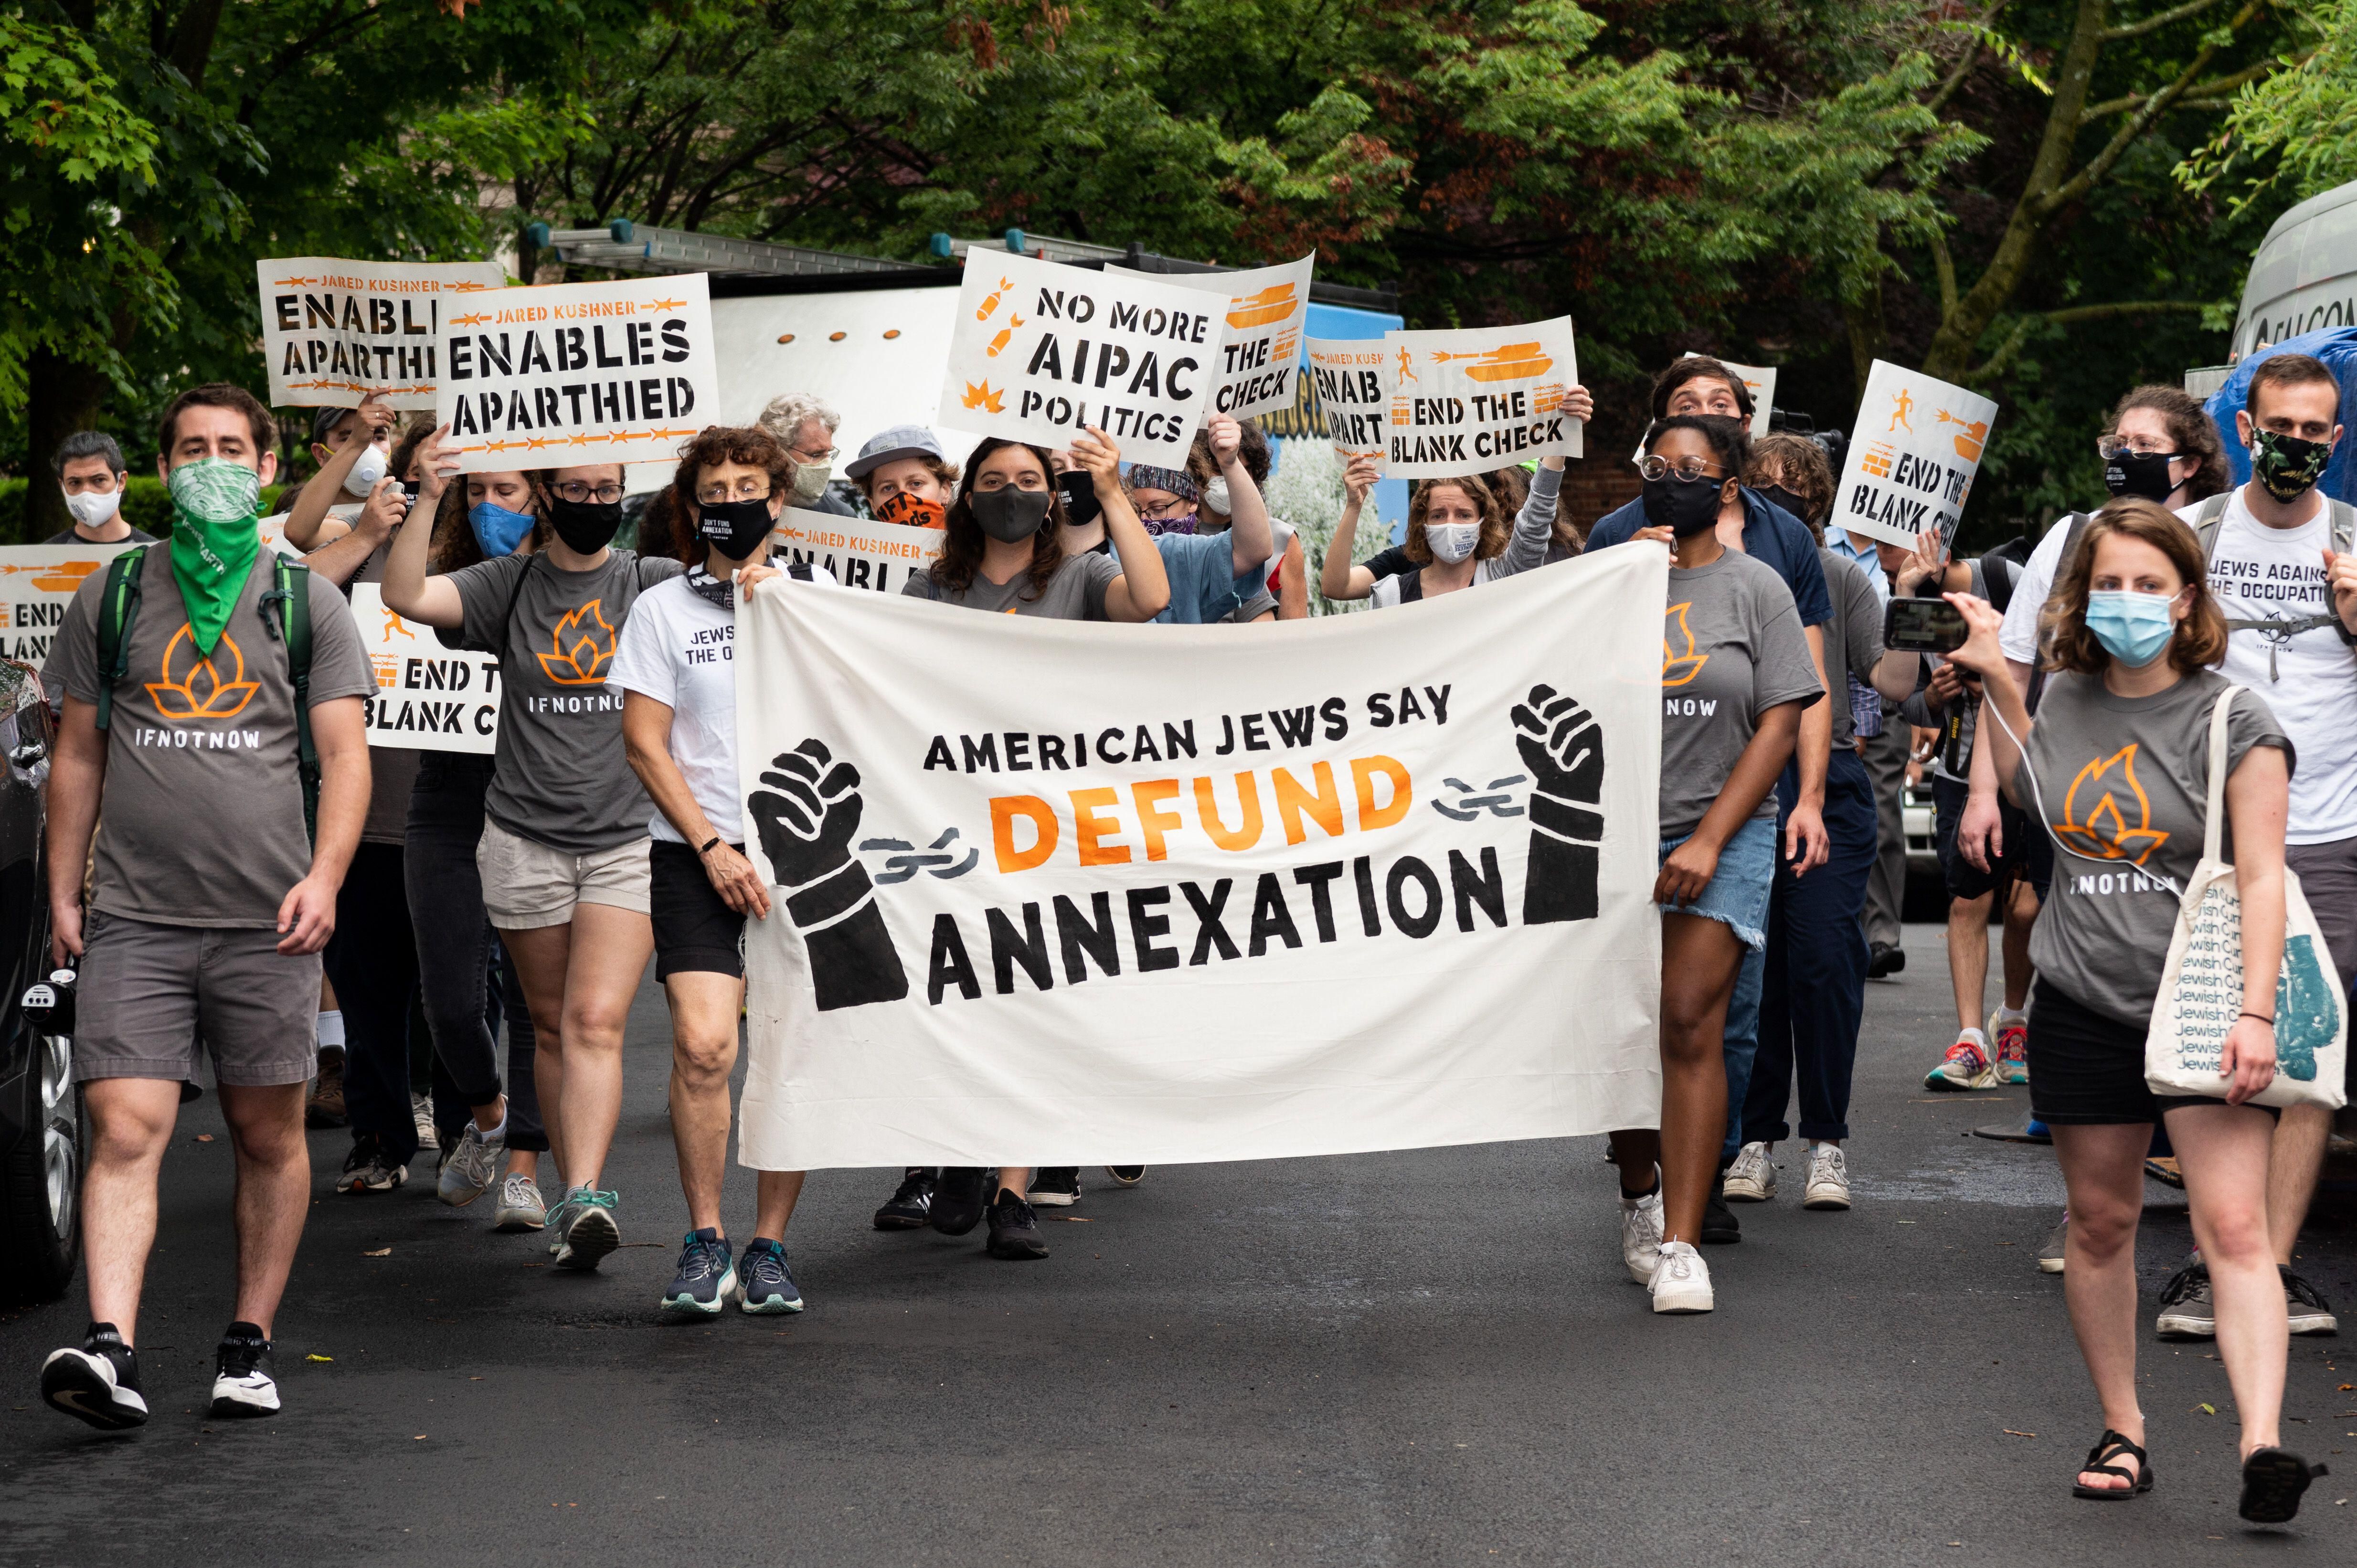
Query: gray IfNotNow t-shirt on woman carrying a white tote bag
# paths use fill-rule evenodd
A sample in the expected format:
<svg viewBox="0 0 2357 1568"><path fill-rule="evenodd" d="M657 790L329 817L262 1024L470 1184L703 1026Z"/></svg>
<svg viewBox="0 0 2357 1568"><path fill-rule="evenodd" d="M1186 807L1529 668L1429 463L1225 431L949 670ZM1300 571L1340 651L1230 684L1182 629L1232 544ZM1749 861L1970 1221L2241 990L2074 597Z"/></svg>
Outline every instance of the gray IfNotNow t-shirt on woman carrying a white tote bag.
<svg viewBox="0 0 2357 1568"><path fill-rule="evenodd" d="M2029 757L2015 771L2022 809L2058 844L2029 962L2107 1019L2143 1028L2152 1016L2185 879L2201 863L2211 703L2230 684L2204 670L2150 698L2121 698L2100 674L2046 677ZM2253 745L2296 762L2275 714L2244 689L2227 724L2227 773ZM2227 830L2230 861L2232 842Z"/></svg>

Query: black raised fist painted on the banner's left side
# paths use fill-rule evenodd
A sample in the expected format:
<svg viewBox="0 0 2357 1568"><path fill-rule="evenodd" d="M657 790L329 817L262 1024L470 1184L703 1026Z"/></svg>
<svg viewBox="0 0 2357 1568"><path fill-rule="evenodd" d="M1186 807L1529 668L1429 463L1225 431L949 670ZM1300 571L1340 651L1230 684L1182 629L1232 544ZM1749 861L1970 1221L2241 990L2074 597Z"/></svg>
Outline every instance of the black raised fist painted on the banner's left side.
<svg viewBox="0 0 2357 1568"><path fill-rule="evenodd" d="M778 887L792 889L785 917L811 950L818 1012L898 1002L907 995L900 950L877 908L867 868L851 858L860 828L860 771L834 762L823 740L771 757L766 790L745 802L761 832Z"/></svg>

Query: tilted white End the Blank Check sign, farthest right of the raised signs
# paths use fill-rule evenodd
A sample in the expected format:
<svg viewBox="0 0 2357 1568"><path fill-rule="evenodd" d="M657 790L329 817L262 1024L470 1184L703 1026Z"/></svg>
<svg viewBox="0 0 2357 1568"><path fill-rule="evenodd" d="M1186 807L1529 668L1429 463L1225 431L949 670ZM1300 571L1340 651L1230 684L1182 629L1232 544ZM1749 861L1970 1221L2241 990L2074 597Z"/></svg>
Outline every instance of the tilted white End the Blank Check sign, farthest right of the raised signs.
<svg viewBox="0 0 2357 1568"><path fill-rule="evenodd" d="M1893 545L1926 528L1954 540L1992 420L1989 398L1874 361L1827 528Z"/></svg>

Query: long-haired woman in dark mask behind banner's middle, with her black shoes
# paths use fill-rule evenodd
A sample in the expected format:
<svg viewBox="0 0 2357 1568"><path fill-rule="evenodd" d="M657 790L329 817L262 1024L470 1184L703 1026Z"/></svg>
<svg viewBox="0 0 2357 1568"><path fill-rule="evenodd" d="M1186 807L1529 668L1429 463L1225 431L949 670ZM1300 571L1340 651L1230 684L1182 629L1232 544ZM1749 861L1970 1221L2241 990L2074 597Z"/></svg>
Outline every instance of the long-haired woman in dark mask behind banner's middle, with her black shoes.
<svg viewBox="0 0 2357 1568"><path fill-rule="evenodd" d="M1089 476L1091 498L1113 540L1110 552L1068 554L1063 547L1065 493L1056 486L1047 448L990 436L973 448L943 519L948 538L931 566L910 575L903 594L962 604L1006 615L1049 620L1153 620L1169 604L1169 575L1129 493L1113 436L1087 427L1072 439L1075 472ZM1263 549L1266 559L1266 549ZM988 1203L990 1257L1047 1257L1039 1217L1025 1193L1028 1165L1002 1165ZM907 1184L903 1184L907 1191ZM898 1195L896 1195L898 1200ZM891 1207L891 1205L886 1205ZM985 1212L981 1167L948 1167L931 1198L931 1226L964 1236ZM882 1214L879 1214L882 1219Z"/></svg>

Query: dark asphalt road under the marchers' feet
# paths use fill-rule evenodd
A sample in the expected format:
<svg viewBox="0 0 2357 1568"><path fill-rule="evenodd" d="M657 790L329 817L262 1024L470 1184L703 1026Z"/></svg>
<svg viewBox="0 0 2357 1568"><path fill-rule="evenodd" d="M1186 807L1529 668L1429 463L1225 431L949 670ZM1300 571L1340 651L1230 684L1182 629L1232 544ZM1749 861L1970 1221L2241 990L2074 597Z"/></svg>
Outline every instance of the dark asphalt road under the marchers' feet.
<svg viewBox="0 0 2357 1568"><path fill-rule="evenodd" d="M346 1134L313 1134L285 1412L212 1422L231 1167L207 1096L165 1162L158 1417L106 1438L40 1405L78 1299L0 1320L0 1561L2357 1561L2345 1339L2293 1342L2289 1441L2341 1474L2291 1530L2234 1518L2209 1346L2147 1342L2157 1490L2069 1500L2100 1419L2032 1266L2062 1184L2041 1148L1961 1137L2022 1092L1919 1087L1947 1040L1937 936L1912 927L1907 976L1869 988L1857 1207L1803 1212L1787 1146L1784 1193L1709 1250L1706 1318L1645 1311L1603 1141L1577 1139L1157 1167L1131 1191L1084 1172L1065 1214L1087 1224L1051 1219L1044 1264L990 1261L981 1231L877 1233L893 1174L823 1172L787 1238L804 1316L660 1327L686 1210L648 990L613 1167L629 1245L601 1273L547 1269L429 1177L328 1193ZM2187 1247L2183 1198L2150 1198L2147 1316ZM2303 1269L2350 1313L2357 1195L2331 1205ZM731 1219L750 1231L745 1172Z"/></svg>

